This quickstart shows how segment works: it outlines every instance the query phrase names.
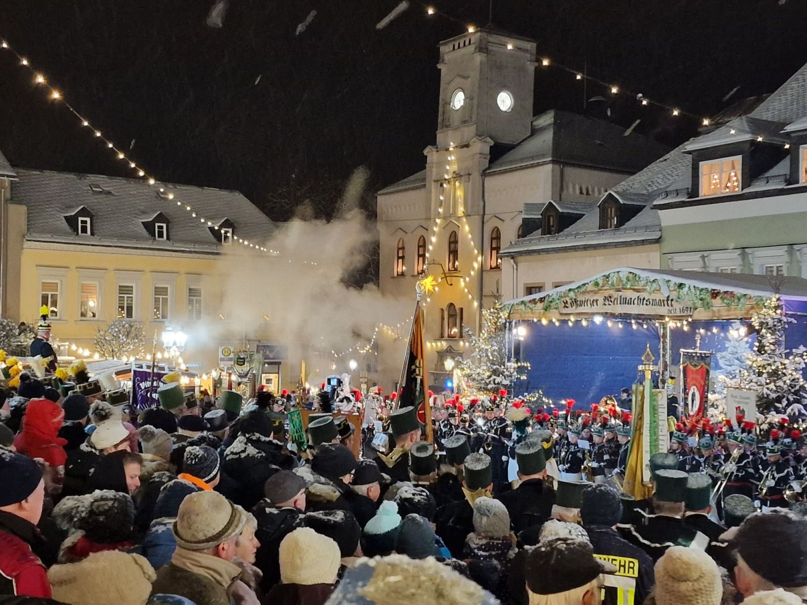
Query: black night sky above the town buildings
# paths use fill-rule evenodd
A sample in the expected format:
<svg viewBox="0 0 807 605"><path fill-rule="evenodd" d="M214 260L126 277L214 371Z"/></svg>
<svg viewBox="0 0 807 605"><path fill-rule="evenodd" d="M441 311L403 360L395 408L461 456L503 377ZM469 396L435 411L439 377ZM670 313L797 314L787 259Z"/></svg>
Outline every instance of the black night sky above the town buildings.
<svg viewBox="0 0 807 605"><path fill-rule="evenodd" d="M488 20L487 0L433 2L457 21L412 2L377 31L398 3L229 0L211 28L213 0L2 0L0 35L116 144L134 140L131 156L157 177L240 190L278 220L308 200L327 219L357 166L374 189L423 168L437 43ZM539 56L701 115L769 93L807 62L803 0L494 0L493 14ZM604 92L539 67L535 113L605 118L609 107L608 119L642 118L638 132L669 144L696 132L635 98L583 107ZM7 52L0 149L17 166L132 176Z"/></svg>

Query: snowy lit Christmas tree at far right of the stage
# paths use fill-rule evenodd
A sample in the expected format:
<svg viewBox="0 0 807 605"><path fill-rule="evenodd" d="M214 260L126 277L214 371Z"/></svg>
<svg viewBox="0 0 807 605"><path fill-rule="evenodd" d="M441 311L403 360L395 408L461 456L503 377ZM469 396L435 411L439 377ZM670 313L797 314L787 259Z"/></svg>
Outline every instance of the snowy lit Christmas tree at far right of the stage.
<svg viewBox="0 0 807 605"><path fill-rule="evenodd" d="M757 334L754 348L746 357L748 365L739 369L736 379L726 379L725 384L757 392L757 424L766 429L779 424L788 408L801 402L807 386L802 375L807 348L784 348L785 328L796 320L785 315L778 294L765 302L751 323Z"/></svg>

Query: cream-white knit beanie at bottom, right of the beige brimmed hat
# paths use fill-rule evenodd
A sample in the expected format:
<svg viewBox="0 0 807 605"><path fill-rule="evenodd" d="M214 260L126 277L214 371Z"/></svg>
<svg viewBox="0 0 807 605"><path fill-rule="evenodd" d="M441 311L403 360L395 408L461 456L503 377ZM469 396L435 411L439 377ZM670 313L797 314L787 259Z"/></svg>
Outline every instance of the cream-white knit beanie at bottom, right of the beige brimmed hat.
<svg viewBox="0 0 807 605"><path fill-rule="evenodd" d="M337 581L341 554L328 536L311 528L297 528L280 542L278 552L283 584L333 584Z"/></svg>

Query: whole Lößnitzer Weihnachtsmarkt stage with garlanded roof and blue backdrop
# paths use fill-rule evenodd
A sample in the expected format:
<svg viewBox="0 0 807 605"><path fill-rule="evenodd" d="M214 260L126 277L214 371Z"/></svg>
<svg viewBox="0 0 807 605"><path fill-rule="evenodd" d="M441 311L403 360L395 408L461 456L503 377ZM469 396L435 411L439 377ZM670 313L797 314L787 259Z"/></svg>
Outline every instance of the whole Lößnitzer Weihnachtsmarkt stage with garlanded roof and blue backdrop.
<svg viewBox="0 0 807 605"><path fill-rule="evenodd" d="M801 403L807 280L801 277L621 268L505 303L522 386L588 406L606 395L629 408L637 361L650 347L655 385L675 415L706 415L755 391L759 411ZM625 390L623 393L623 389ZM677 399L673 399L673 396ZM754 400L754 397L751 397Z"/></svg>

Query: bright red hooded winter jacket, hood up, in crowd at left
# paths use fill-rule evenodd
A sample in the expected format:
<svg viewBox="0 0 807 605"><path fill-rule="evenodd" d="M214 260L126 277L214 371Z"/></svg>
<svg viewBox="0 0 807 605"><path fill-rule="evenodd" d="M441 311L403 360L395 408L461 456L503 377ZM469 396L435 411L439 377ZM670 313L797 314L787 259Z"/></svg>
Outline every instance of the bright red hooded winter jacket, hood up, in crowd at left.
<svg viewBox="0 0 807 605"><path fill-rule="evenodd" d="M14 439L18 452L42 458L51 466L64 466L67 440L59 436L65 411L49 399L31 399L23 416L23 430Z"/></svg>

